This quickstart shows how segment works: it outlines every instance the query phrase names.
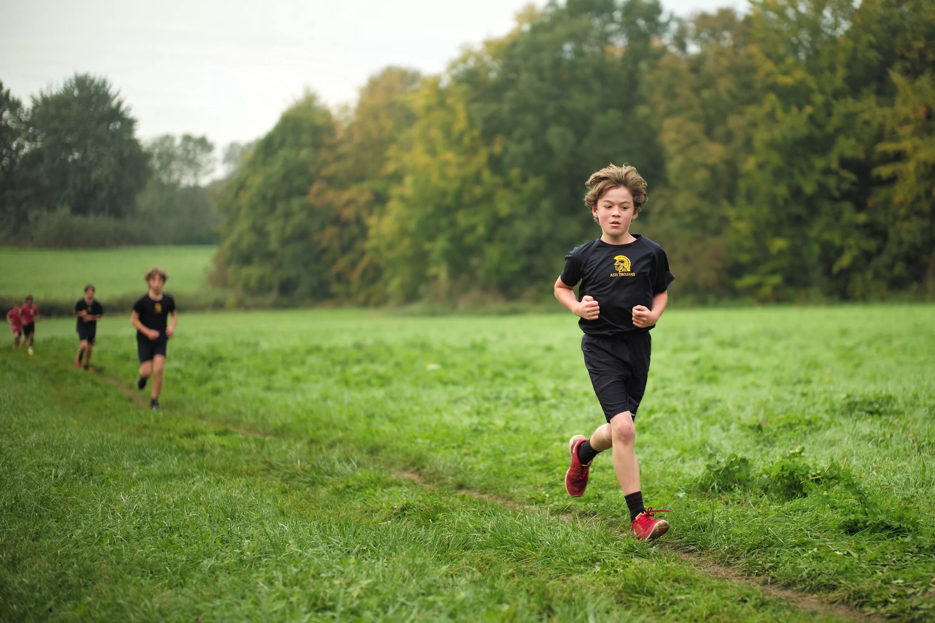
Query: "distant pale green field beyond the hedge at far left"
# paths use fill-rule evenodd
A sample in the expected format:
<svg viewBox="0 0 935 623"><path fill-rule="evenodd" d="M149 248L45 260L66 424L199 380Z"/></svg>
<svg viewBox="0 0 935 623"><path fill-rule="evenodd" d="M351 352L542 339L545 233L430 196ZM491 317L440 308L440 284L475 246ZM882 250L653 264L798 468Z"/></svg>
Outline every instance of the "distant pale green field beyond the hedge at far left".
<svg viewBox="0 0 935 623"><path fill-rule="evenodd" d="M10 248L0 247L0 297L77 301L93 283L103 301L146 290L143 274L152 265L169 275L165 290L194 292L205 287L215 248Z"/></svg>

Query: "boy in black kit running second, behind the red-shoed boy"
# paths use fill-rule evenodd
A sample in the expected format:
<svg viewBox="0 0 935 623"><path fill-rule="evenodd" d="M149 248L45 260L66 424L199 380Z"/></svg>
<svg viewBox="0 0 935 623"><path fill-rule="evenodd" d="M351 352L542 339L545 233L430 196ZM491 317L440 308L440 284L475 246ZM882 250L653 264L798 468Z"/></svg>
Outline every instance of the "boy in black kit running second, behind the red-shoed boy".
<svg viewBox="0 0 935 623"><path fill-rule="evenodd" d="M146 379L152 375L153 410L159 409L159 392L163 389L163 369L165 368L165 344L175 333L179 312L175 308L175 299L163 293L163 286L168 277L161 268L153 266L144 277L150 285L150 291L143 294L133 305L130 322L137 327L137 353L139 354L139 378L137 388L146 387ZM166 319L172 315L172 324L166 326Z"/></svg>

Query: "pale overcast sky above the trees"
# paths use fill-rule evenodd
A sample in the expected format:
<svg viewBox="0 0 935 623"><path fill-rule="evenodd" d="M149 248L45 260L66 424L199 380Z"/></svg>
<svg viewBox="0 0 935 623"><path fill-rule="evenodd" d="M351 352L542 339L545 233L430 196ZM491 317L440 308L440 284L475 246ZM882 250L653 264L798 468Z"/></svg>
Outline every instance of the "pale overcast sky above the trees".
<svg viewBox="0 0 935 623"><path fill-rule="evenodd" d="M528 0L0 0L0 81L29 96L76 71L107 77L139 135L263 135L308 87L350 102L388 64L437 73L510 31ZM537 2L542 5L543 3ZM741 0L663 0L684 15Z"/></svg>

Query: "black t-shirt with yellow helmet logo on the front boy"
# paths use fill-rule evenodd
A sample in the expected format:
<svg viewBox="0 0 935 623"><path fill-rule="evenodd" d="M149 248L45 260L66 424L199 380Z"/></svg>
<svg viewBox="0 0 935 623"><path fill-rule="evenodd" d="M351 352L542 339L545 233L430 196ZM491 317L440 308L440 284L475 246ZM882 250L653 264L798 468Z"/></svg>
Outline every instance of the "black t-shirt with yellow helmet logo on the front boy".
<svg viewBox="0 0 935 623"><path fill-rule="evenodd" d="M567 286L581 281L579 296L593 296L600 305L596 320L578 322L588 335L644 333L653 328L633 326L633 307L652 309L653 297L666 291L675 277L662 247L645 236L634 237L626 245L609 245L597 238L565 256L562 281Z"/></svg>

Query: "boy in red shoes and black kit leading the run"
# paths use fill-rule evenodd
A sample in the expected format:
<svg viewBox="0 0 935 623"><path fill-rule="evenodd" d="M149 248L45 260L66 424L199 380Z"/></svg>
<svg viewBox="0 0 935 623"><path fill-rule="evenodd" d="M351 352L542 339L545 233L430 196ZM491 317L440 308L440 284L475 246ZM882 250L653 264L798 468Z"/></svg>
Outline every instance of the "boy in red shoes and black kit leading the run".
<svg viewBox="0 0 935 623"><path fill-rule="evenodd" d="M574 248L555 281L555 298L575 315L584 336L584 365L607 423L585 439L568 441L571 466L565 474L568 495L581 497L587 487L591 461L611 446L613 470L623 489L630 521L638 539L654 539L669 530L669 522L645 508L640 491L640 464L634 450L633 418L649 373L651 340L669 301L674 278L666 252L649 238L630 234L648 199L646 182L632 166L611 164L587 180L584 204L600 224L596 240ZM572 288L581 281L581 301Z"/></svg>

